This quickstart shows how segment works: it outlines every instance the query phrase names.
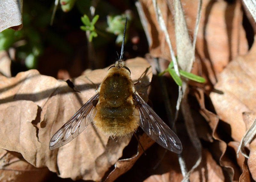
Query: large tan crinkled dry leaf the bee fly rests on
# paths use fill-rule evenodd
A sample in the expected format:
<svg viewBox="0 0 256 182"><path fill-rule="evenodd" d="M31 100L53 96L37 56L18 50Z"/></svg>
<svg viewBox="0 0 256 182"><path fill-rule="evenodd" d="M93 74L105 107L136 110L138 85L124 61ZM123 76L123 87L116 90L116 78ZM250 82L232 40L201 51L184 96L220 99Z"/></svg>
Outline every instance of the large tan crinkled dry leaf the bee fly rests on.
<svg viewBox="0 0 256 182"><path fill-rule="evenodd" d="M143 58L127 61L132 80L137 81L149 67ZM129 138L115 144L102 136L93 125L72 142L49 150L52 135L95 93L108 68L88 71L67 82L40 75L37 70L21 72L16 77L0 77L0 148L20 153L35 167L48 167L62 178L99 181L108 168L122 156ZM143 77L151 81L151 69ZM89 79L88 79L89 78ZM148 82L148 83L147 83ZM145 88L145 85L143 87ZM76 91L75 91L76 90ZM79 92L77 92L79 91ZM147 94L145 94L147 95Z"/></svg>

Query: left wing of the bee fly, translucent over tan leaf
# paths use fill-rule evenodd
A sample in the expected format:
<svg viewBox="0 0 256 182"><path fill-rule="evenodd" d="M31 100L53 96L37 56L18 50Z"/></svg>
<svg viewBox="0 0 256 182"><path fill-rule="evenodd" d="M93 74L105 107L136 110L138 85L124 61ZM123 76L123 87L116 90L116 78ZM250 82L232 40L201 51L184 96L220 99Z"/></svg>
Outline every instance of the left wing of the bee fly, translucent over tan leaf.
<svg viewBox="0 0 256 182"><path fill-rule="evenodd" d="M94 119L99 100L97 92L88 102L84 104L53 136L49 143L49 149L57 149L67 144L79 135Z"/></svg>

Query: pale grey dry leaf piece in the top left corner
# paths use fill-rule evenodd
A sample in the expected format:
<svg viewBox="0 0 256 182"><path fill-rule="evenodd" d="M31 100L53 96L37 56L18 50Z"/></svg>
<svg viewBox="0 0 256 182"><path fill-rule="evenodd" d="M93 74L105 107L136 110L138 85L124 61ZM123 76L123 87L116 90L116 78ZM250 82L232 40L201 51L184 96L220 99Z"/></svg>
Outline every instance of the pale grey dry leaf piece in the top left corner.
<svg viewBox="0 0 256 182"><path fill-rule="evenodd" d="M23 0L2 0L0 6L0 32L7 28L20 30L22 28Z"/></svg>

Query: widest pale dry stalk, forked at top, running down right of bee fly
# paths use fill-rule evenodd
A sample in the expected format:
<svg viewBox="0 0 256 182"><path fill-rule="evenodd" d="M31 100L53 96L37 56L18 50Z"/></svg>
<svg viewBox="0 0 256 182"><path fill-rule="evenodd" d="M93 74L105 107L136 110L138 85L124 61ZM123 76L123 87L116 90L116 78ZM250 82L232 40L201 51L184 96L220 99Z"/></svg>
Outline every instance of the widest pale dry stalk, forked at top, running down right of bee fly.
<svg viewBox="0 0 256 182"><path fill-rule="evenodd" d="M179 65L181 69L190 72L193 66L193 62L195 61L196 37L198 33L199 22L200 22L201 12L202 12L202 0L199 0L198 2L197 18L196 18L196 25L194 30L193 43L191 43L191 40L188 34L188 28L186 25L186 20L184 18L184 13L183 13L180 0L173 0L173 1L174 1L174 10L175 10L174 21L175 21L177 57L178 57ZM183 91L183 100L181 102L181 108L182 108L182 113L185 120L185 125L188 131L189 138L193 143L194 147L196 148L199 156L196 161L196 164L184 176L182 180L184 182L189 180L190 174L201 163L202 146L199 138L197 137L195 124L194 124L193 117L188 105L188 87L185 81L182 82L182 91Z"/></svg>

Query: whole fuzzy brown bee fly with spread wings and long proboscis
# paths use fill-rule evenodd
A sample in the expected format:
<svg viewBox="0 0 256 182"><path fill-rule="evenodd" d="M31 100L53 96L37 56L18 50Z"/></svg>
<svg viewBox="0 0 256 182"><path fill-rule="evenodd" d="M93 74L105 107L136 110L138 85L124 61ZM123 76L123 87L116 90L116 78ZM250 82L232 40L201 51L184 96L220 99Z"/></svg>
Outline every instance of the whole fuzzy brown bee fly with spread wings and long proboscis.
<svg viewBox="0 0 256 182"><path fill-rule="evenodd" d="M124 27L124 37L127 18ZM131 71L123 61L124 37L120 59L108 69L98 91L53 136L49 149L67 144L91 122L110 137L122 137L140 126L162 147L181 153L180 139L148 106L136 91Z"/></svg>

